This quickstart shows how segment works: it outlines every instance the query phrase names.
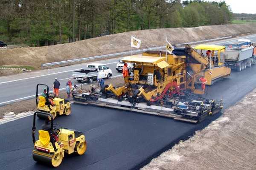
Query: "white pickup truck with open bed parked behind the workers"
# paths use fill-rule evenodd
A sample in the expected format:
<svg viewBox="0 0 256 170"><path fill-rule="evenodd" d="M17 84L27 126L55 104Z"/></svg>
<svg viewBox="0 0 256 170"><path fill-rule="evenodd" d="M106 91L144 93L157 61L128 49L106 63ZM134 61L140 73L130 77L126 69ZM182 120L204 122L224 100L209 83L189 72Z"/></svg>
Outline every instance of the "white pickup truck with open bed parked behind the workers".
<svg viewBox="0 0 256 170"><path fill-rule="evenodd" d="M97 78L107 78L110 79L112 76L112 71L105 64L92 63L87 64L86 68L80 71L73 71L72 77L78 82L88 81L92 83L93 80Z"/></svg>

